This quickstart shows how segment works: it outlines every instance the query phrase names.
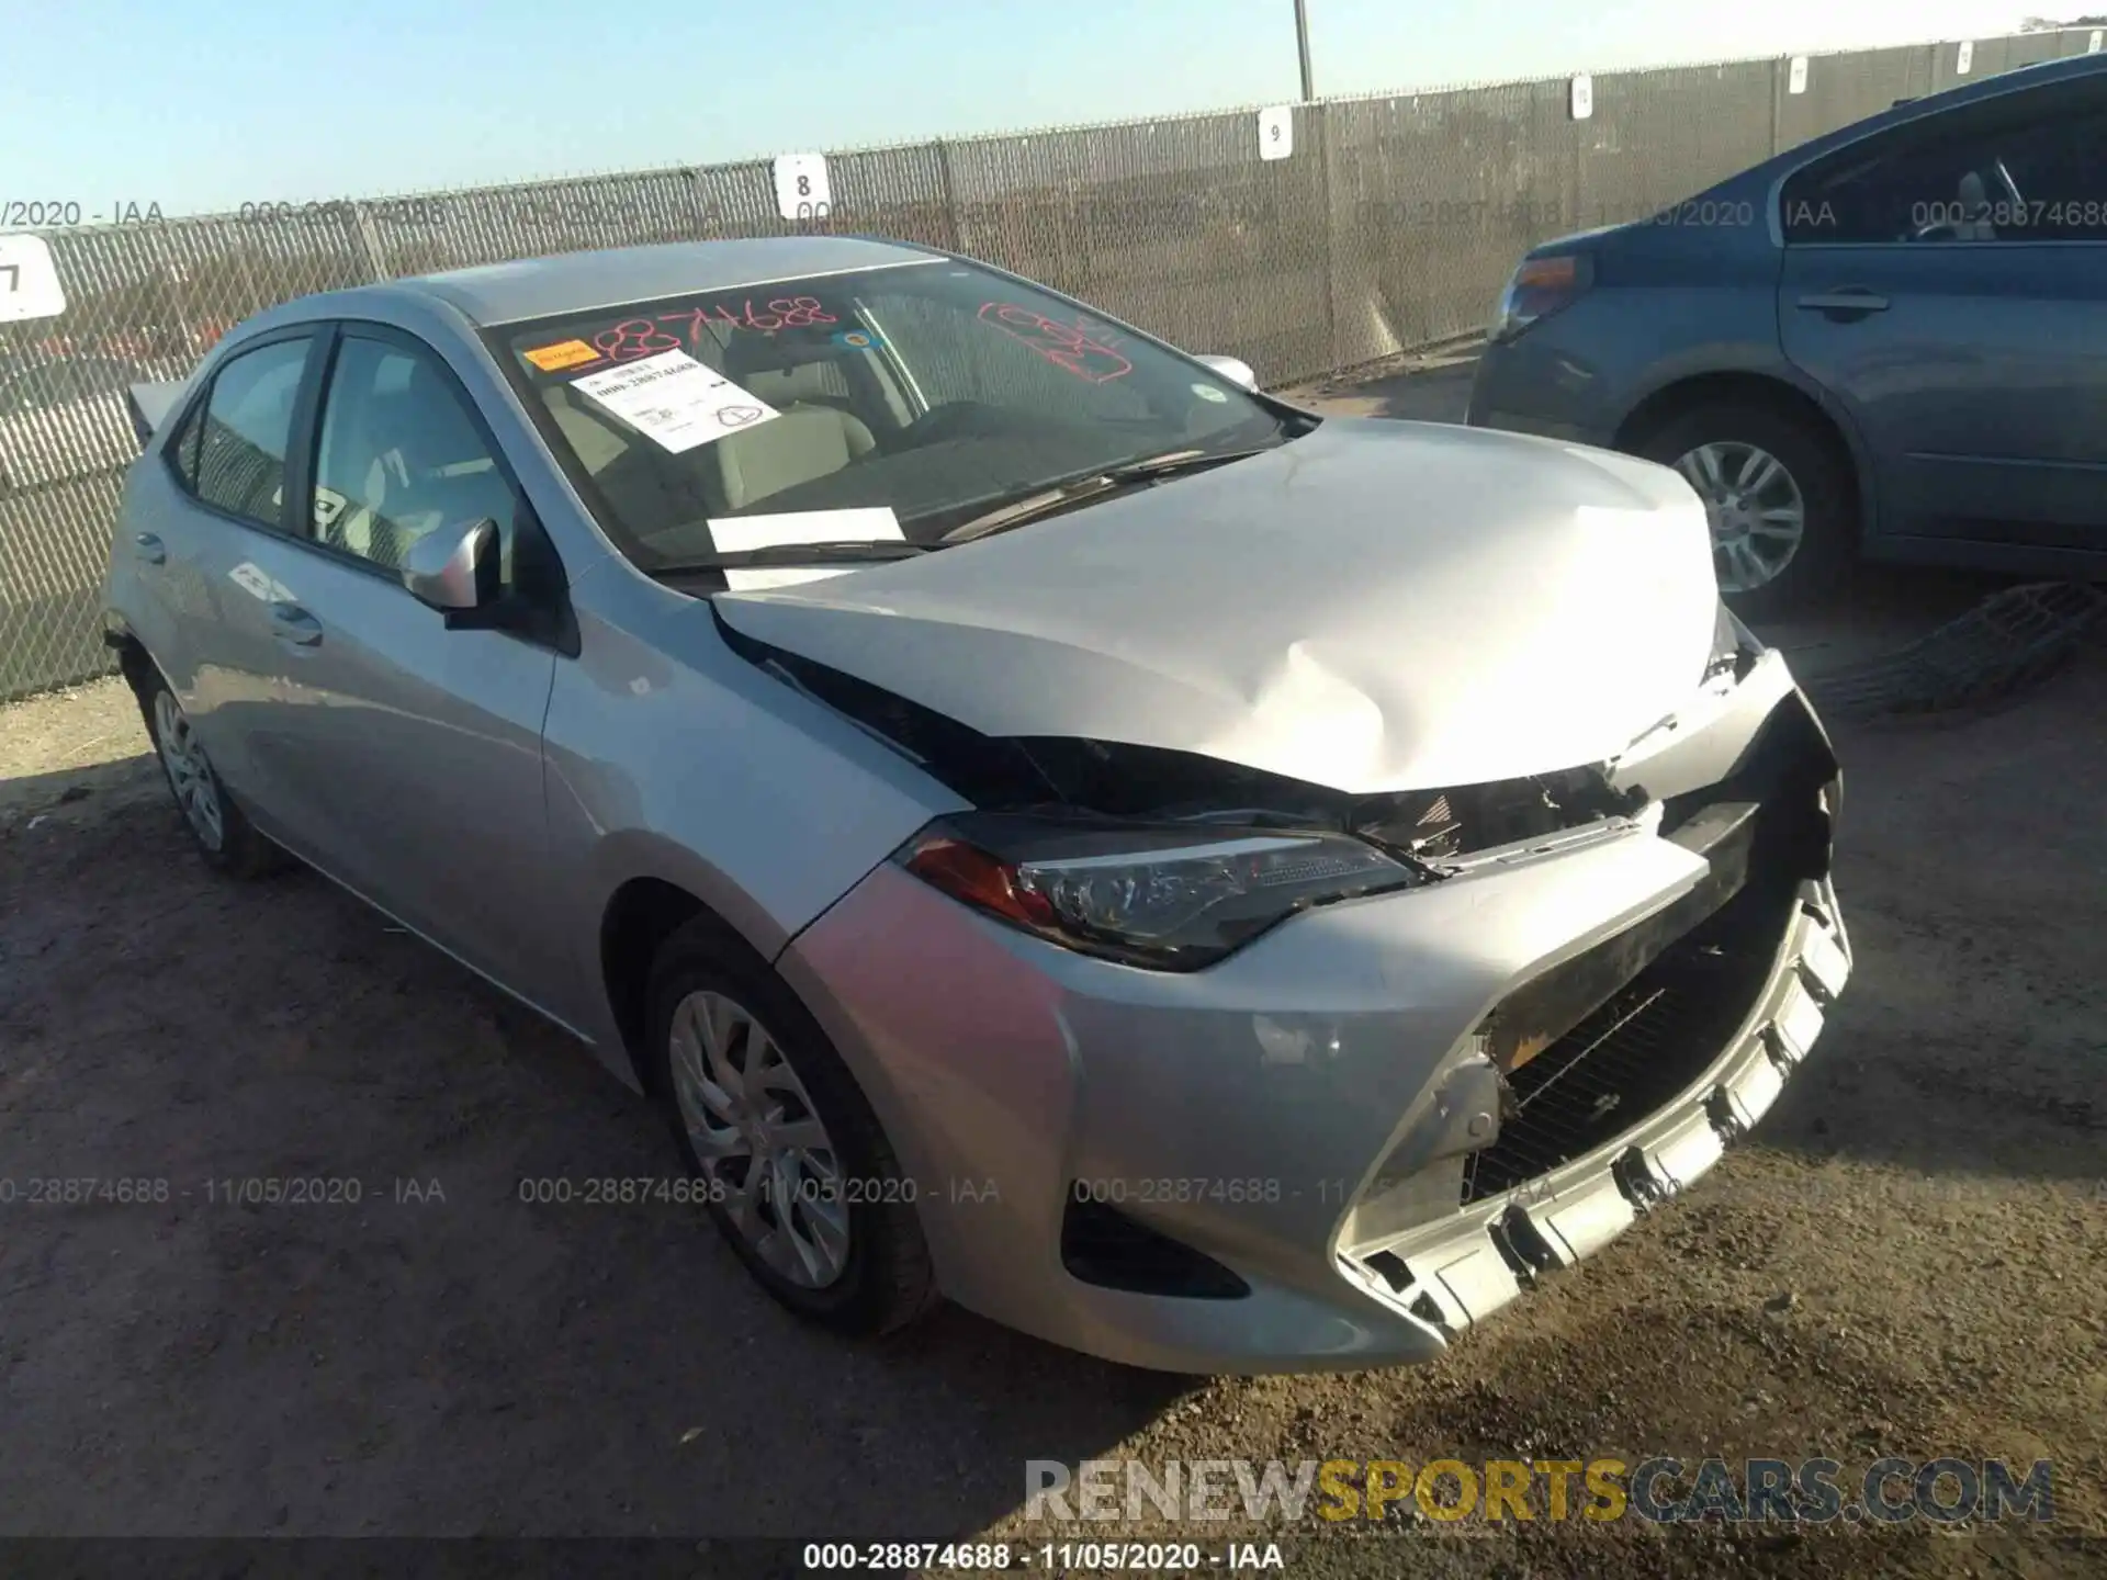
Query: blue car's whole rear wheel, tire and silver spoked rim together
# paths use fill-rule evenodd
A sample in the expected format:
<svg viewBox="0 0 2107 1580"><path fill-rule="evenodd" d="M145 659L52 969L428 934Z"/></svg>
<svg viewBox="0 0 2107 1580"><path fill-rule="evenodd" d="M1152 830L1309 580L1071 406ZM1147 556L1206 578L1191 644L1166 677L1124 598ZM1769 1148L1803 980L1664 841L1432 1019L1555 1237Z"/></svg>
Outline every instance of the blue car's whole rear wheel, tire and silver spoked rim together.
<svg viewBox="0 0 2107 1580"><path fill-rule="evenodd" d="M1673 466L1705 499L1719 592L1738 613L1808 609L1842 584L1858 539L1856 491L1804 419L1755 402L1696 407L1637 453Z"/></svg>

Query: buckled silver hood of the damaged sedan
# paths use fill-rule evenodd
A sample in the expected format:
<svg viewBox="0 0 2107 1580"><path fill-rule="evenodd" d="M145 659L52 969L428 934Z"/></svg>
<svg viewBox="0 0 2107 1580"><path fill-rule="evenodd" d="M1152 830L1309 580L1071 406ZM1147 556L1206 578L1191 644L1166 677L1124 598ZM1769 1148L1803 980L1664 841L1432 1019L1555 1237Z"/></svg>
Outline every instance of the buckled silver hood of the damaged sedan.
<svg viewBox="0 0 2107 1580"><path fill-rule="evenodd" d="M744 636L986 735L1081 735L1355 794L1599 763L1700 685L1717 590L1667 468L1330 419L917 560L718 594Z"/></svg>

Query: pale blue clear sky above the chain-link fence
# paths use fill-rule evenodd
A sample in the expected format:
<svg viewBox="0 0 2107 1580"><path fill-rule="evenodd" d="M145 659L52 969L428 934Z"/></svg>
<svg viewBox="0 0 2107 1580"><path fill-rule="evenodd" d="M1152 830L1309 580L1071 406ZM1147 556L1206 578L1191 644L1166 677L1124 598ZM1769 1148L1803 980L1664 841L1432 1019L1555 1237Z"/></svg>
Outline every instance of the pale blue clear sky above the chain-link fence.
<svg viewBox="0 0 2107 1580"><path fill-rule="evenodd" d="M2063 15L1308 0L1319 97L1987 38L2035 11ZM0 0L0 228L13 202L173 217L1296 97L1292 0Z"/></svg>

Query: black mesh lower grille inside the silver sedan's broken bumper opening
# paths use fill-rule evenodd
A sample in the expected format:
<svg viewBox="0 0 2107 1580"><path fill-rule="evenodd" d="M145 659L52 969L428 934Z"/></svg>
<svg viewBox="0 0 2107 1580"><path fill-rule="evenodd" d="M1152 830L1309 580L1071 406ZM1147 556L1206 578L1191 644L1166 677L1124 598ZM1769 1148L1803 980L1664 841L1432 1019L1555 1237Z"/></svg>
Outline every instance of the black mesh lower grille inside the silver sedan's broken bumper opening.
<svg viewBox="0 0 2107 1580"><path fill-rule="evenodd" d="M1797 897L1751 883L1509 1074L1500 1138L1464 1161L1464 1205L1513 1190L1673 1102L1755 1007Z"/></svg>

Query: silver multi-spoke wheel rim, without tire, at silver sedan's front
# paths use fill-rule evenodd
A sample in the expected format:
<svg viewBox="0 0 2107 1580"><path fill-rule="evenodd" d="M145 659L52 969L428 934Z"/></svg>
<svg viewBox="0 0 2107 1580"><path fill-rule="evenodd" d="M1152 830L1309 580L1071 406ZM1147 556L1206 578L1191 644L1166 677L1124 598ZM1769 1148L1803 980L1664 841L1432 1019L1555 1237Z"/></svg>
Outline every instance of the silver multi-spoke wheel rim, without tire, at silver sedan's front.
<svg viewBox="0 0 2107 1580"><path fill-rule="evenodd" d="M685 996L670 1039L681 1125L731 1230L790 1283L826 1289L849 1266L849 1199L782 1045L721 992Z"/></svg>

